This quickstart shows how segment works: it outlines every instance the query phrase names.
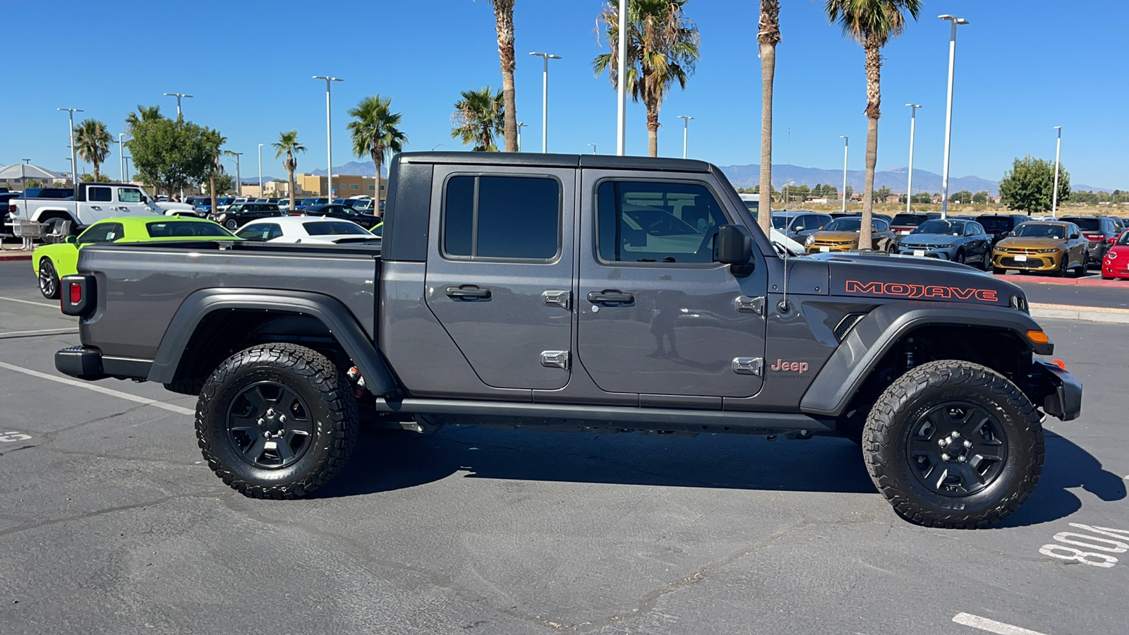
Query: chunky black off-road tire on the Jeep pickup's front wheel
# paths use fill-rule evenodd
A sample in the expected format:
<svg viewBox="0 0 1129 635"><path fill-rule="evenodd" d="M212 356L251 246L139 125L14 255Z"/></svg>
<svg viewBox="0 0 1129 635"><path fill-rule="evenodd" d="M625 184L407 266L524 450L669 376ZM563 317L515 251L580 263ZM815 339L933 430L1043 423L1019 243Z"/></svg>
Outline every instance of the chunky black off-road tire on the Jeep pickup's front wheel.
<svg viewBox="0 0 1129 635"><path fill-rule="evenodd" d="M953 401L992 412L1007 440L995 480L961 497L922 485L907 450L918 417ZM1026 395L999 373L971 362L944 359L909 371L882 393L863 429L863 456L875 487L899 515L926 527L979 529L1018 510L1039 481L1043 451L1039 411Z"/></svg>

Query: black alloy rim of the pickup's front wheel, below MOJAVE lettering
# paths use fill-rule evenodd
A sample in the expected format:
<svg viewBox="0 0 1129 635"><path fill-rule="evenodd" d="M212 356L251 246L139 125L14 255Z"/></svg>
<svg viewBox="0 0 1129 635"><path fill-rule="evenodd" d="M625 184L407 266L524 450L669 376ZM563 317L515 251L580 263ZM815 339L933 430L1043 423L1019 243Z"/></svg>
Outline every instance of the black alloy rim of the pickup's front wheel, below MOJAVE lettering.
<svg viewBox="0 0 1129 635"><path fill-rule="evenodd" d="M962 497L990 486L1007 461L1007 434L991 412L966 402L922 412L905 438L905 458L921 485Z"/></svg>

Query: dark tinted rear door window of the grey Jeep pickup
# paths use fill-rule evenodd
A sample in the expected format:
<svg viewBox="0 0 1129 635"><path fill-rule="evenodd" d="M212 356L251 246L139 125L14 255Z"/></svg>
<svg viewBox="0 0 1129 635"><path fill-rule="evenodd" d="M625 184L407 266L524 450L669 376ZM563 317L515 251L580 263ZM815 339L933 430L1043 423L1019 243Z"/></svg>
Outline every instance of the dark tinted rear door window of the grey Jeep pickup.
<svg viewBox="0 0 1129 635"><path fill-rule="evenodd" d="M453 176L444 198L444 254L551 260L560 251L560 199L554 179Z"/></svg>

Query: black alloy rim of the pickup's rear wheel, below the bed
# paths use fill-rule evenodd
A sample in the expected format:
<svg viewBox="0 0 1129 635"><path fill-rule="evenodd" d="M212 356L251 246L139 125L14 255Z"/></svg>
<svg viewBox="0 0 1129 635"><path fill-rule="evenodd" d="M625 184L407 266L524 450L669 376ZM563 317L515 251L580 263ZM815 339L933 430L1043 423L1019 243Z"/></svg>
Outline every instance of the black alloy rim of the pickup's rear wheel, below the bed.
<svg viewBox="0 0 1129 635"><path fill-rule="evenodd" d="M263 381L239 391L227 409L228 441L256 468L301 459L314 434L306 400L286 384Z"/></svg>

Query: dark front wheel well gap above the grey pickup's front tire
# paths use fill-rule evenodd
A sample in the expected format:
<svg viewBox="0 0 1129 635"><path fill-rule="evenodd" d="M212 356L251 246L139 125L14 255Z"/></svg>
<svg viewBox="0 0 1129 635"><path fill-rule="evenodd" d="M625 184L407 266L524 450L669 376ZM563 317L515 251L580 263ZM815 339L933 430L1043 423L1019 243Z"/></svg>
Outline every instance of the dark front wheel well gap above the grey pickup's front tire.
<svg viewBox="0 0 1129 635"><path fill-rule="evenodd" d="M937 359L959 359L987 366L1023 386L1032 364L1031 355L1031 346L1009 329L959 324L916 328L902 334L878 359L851 397L842 418L847 429L861 430L870 406L894 380L914 366Z"/></svg>

